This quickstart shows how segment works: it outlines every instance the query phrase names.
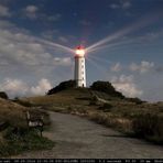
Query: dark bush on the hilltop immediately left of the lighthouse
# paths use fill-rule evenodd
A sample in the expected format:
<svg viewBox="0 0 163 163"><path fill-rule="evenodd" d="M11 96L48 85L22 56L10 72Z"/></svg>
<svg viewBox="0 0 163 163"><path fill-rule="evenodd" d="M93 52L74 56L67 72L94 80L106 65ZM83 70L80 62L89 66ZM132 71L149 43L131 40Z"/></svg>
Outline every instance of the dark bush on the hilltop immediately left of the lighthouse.
<svg viewBox="0 0 163 163"><path fill-rule="evenodd" d="M52 88L51 90L48 90L46 95L53 95L53 94L56 94L58 91L62 91L62 90L65 90L65 89L68 89L68 88L75 88L75 87L76 87L75 80L63 82L58 86L56 86L55 88Z"/></svg>

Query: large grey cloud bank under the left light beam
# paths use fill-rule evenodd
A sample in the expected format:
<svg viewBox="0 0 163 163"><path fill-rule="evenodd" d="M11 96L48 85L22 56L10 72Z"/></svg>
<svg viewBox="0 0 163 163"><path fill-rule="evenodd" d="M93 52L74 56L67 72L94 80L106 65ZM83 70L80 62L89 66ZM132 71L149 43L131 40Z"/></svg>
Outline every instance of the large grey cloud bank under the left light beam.
<svg viewBox="0 0 163 163"><path fill-rule="evenodd" d="M56 47L52 42L35 37L29 31L0 20L0 76L2 78L59 78L72 76L73 61L67 50ZM66 75L64 74L67 69ZM61 73L62 72L62 73ZM69 77L69 76L68 76Z"/></svg>

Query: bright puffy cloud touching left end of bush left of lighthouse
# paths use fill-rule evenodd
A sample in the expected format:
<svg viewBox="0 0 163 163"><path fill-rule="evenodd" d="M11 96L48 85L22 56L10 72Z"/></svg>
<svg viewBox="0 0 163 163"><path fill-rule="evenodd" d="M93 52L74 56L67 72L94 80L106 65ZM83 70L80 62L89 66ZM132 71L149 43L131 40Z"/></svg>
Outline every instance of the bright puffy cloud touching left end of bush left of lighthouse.
<svg viewBox="0 0 163 163"><path fill-rule="evenodd" d="M39 82L39 85L36 87L31 87L32 95L45 95L47 90L52 88L51 83L43 78Z"/></svg>

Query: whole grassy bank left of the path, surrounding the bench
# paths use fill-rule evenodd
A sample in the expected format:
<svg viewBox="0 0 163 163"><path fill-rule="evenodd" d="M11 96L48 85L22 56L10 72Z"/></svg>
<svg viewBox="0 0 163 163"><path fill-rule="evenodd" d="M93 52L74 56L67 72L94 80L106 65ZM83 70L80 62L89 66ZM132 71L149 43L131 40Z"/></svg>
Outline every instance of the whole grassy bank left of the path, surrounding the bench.
<svg viewBox="0 0 163 163"><path fill-rule="evenodd" d="M42 117L45 128L50 127L50 116L39 108L29 108L11 100L0 98L0 157L19 154L24 151L52 149L54 142L40 137L37 130L28 127L26 111L34 117Z"/></svg>

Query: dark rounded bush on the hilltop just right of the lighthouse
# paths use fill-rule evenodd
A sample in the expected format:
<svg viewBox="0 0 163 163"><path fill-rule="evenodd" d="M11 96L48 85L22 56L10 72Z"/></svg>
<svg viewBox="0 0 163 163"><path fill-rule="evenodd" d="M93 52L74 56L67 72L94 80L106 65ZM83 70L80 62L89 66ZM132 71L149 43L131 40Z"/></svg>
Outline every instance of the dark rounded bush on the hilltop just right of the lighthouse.
<svg viewBox="0 0 163 163"><path fill-rule="evenodd" d="M93 90L98 90L98 91L106 93L106 94L108 94L110 96L124 98L124 96L121 93L117 91L109 82L100 82L100 80L95 82L90 86L90 88Z"/></svg>

